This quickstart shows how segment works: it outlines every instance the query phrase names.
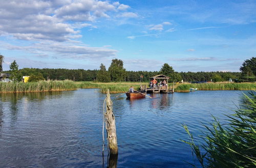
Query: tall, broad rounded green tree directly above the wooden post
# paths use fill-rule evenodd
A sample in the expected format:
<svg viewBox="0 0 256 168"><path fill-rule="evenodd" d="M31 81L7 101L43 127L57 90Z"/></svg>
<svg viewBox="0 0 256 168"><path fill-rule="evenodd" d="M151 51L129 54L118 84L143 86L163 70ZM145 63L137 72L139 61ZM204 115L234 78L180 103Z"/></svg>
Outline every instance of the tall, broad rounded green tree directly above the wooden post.
<svg viewBox="0 0 256 168"><path fill-rule="evenodd" d="M118 59L113 59L109 67L109 73L111 81L124 81L126 77L126 71L123 68L123 61Z"/></svg>

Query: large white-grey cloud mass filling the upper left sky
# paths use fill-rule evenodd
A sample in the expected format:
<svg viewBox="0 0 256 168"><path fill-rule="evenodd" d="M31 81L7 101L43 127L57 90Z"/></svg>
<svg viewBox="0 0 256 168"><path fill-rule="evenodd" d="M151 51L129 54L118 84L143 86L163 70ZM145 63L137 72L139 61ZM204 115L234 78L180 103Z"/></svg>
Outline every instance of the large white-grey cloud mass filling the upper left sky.
<svg viewBox="0 0 256 168"><path fill-rule="evenodd" d="M0 5L0 32L20 40L70 41L80 38L79 29L97 28L97 18L110 18L111 12L127 9L129 6L109 1L97 0L13 0L3 1ZM126 12L122 17L137 17Z"/></svg>

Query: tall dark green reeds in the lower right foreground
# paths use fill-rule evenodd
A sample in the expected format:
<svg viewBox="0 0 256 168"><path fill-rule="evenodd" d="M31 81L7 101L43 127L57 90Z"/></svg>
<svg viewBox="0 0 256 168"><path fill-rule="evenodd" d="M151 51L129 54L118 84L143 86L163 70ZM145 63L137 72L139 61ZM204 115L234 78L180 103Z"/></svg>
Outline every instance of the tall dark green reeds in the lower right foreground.
<svg viewBox="0 0 256 168"><path fill-rule="evenodd" d="M254 91L255 93L255 91ZM244 94L244 100L234 114L227 116L228 123L221 124L216 118L211 127L205 126L209 133L203 135L206 152L200 151L194 142L193 135L183 125L190 145L202 167L255 167L256 166L256 96L253 91L250 97ZM191 164L195 166L194 164Z"/></svg>

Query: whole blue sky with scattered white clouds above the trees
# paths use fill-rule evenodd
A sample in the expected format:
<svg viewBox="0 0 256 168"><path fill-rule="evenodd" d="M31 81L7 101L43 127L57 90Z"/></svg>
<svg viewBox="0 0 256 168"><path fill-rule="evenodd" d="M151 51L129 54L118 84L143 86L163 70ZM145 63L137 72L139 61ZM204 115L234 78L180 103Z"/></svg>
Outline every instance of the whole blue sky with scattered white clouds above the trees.
<svg viewBox="0 0 256 168"><path fill-rule="evenodd" d="M0 0L3 69L239 72L256 57L256 1Z"/></svg>

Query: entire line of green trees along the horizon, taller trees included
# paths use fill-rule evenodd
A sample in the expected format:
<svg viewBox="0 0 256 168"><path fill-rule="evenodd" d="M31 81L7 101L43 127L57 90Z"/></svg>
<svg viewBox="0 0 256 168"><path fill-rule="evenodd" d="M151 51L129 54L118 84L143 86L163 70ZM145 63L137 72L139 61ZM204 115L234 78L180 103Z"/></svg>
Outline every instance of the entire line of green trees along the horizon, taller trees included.
<svg viewBox="0 0 256 168"><path fill-rule="evenodd" d="M3 60L2 60L3 62ZM1 67L0 67L1 68ZM126 71L123 67L123 61L113 59L108 70L101 64L99 70L84 69L51 69L51 68L23 68L18 69L17 63L10 65L10 70L5 73L11 73L11 78L20 80L22 76L30 76L30 81L37 80L65 80L74 81L141 81L148 82L150 77L164 74L170 77L170 82L183 81L256 81L256 58L245 60L240 67L241 72L176 72L172 66L165 63L159 71ZM14 75L14 76L13 76Z"/></svg>

